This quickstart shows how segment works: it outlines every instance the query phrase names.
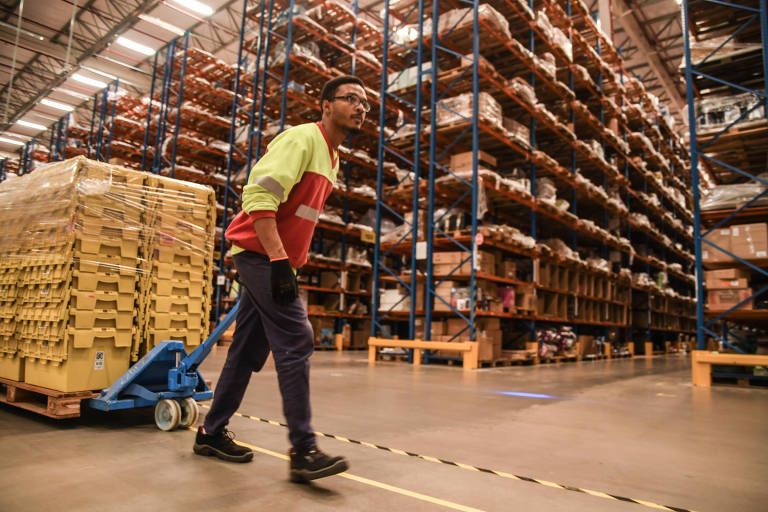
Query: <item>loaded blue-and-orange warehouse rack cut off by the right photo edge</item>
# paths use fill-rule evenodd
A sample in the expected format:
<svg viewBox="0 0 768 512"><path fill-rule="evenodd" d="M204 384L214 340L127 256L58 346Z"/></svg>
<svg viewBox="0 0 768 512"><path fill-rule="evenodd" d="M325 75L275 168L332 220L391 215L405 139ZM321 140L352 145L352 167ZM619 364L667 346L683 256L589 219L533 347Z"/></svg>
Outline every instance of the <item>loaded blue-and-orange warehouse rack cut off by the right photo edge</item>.
<svg viewBox="0 0 768 512"><path fill-rule="evenodd" d="M717 345L743 353L749 350L750 332L768 329L764 305L768 260L766 242L760 238L766 229L768 192L764 174L768 154L766 12L765 1L683 4L684 26L695 37L692 41L686 31L699 350L711 347L708 339L713 339ZM726 19L728 23L724 23ZM701 197L699 187L710 179L719 185L715 192L720 197L740 191L735 202L708 201L705 205L709 198ZM709 270L706 275L705 269ZM716 269L723 276L732 274L726 289L721 290L715 279Z"/></svg>

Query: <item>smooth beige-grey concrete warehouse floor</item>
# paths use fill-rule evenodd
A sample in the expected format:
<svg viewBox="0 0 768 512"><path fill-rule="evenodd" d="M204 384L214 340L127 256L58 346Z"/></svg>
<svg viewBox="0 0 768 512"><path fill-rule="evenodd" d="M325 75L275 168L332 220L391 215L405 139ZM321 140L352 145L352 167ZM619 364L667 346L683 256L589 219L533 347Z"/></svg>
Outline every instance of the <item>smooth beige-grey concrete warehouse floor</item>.
<svg viewBox="0 0 768 512"><path fill-rule="evenodd" d="M207 379L224 355L205 362ZM768 390L693 388L689 366L666 356L465 373L318 352L314 427L681 509L768 509ZM271 365L240 412L283 421ZM243 417L230 428L257 449L253 462L196 456L193 432L161 432L151 411L57 422L0 404L0 511L651 510L337 439L319 444L349 458L346 475L291 484L285 429Z"/></svg>

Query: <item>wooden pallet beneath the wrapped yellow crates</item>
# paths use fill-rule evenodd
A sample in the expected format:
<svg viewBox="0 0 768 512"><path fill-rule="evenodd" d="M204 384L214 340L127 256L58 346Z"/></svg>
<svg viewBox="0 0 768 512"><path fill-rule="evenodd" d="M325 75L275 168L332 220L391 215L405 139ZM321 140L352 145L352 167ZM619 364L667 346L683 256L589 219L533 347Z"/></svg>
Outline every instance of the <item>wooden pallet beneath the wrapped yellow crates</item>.
<svg viewBox="0 0 768 512"><path fill-rule="evenodd" d="M92 391L64 392L0 378L0 402L57 420L80 417L80 402Z"/></svg>

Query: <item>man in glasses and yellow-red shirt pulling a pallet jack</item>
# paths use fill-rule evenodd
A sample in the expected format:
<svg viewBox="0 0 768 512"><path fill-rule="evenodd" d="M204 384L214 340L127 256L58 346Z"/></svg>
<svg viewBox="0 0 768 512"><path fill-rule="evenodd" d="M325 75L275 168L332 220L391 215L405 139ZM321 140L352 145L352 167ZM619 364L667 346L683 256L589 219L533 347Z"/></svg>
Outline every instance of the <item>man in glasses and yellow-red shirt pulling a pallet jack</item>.
<svg viewBox="0 0 768 512"><path fill-rule="evenodd" d="M307 261L312 234L339 170L337 148L362 127L370 104L362 81L341 76L325 84L322 120L289 128L267 146L243 188L241 211L226 237L243 284L237 325L211 410L194 452L248 462L253 452L225 427L240 406L251 373L274 356L288 423L290 479L302 482L346 471L343 457L315 444L310 426L309 356L314 335L298 298L296 269Z"/></svg>

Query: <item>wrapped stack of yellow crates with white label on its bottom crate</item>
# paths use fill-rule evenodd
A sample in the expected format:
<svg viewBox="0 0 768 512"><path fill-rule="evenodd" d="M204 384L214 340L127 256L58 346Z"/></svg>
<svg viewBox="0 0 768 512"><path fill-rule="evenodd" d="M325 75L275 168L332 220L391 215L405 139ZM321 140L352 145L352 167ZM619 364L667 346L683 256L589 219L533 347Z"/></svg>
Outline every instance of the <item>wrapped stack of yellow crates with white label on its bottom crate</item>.
<svg viewBox="0 0 768 512"><path fill-rule="evenodd" d="M129 365L144 177L80 157L28 181L16 326L24 381L107 387Z"/></svg>

